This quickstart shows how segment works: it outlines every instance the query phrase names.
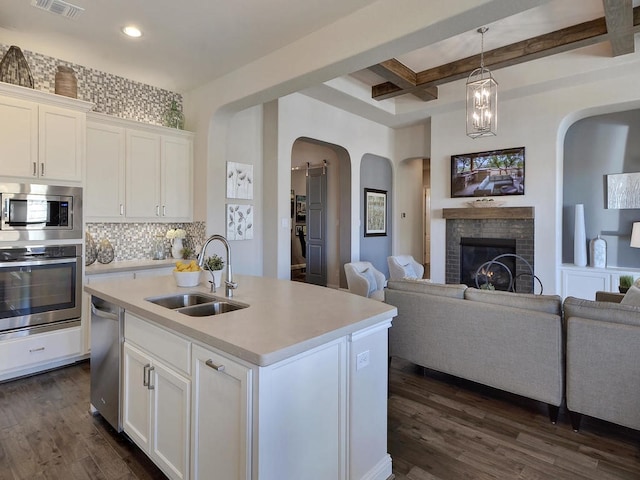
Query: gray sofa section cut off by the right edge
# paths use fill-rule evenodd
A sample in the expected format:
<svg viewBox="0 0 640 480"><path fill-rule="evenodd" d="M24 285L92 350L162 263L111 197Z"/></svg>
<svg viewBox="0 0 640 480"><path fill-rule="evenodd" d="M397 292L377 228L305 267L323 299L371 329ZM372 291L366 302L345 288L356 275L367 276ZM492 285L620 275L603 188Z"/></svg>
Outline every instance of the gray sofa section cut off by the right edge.
<svg viewBox="0 0 640 480"><path fill-rule="evenodd" d="M567 297L564 315L573 429L584 414L640 430L640 307Z"/></svg>

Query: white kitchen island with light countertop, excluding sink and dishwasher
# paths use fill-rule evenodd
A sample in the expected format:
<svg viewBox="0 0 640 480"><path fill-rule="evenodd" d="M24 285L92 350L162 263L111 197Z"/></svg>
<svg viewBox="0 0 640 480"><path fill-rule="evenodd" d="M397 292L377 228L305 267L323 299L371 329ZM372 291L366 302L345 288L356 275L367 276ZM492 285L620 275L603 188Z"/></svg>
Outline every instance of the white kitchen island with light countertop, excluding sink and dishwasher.
<svg viewBox="0 0 640 480"><path fill-rule="evenodd" d="M85 286L125 310L125 433L170 478L390 477L396 309L298 282L234 280L229 300L246 308L204 317L146 300L208 294L204 275L193 288L172 276Z"/></svg>

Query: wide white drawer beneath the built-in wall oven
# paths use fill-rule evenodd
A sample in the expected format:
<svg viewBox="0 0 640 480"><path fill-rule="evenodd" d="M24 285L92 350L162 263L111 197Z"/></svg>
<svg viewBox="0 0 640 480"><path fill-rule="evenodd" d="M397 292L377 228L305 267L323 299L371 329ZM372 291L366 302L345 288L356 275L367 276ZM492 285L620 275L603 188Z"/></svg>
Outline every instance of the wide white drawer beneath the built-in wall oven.
<svg viewBox="0 0 640 480"><path fill-rule="evenodd" d="M0 342L0 373L80 355L80 330L81 327L63 328Z"/></svg>

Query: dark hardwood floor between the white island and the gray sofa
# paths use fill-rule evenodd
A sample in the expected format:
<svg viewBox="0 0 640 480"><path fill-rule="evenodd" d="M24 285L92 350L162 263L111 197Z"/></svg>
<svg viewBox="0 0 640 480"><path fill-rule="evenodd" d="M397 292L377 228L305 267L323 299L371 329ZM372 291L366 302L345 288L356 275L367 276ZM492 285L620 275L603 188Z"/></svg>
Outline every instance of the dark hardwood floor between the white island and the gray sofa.
<svg viewBox="0 0 640 480"><path fill-rule="evenodd" d="M394 359L389 453L396 480L638 480L640 432ZM640 408L640 392L638 407Z"/></svg>

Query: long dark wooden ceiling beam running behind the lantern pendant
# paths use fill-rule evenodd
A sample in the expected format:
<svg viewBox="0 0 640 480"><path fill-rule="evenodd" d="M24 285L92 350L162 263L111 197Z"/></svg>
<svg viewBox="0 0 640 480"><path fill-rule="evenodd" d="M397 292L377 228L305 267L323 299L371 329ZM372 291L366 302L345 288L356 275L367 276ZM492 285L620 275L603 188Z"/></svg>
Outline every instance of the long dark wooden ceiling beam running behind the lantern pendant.
<svg viewBox="0 0 640 480"><path fill-rule="evenodd" d="M640 7L635 7L633 8L632 34L637 33L639 30ZM492 70L498 70L594 45L608 38L606 20L602 17L485 52L484 65ZM371 88L371 96L376 100L384 100L413 93L418 89L437 87L438 85L466 78L478 65L480 65L480 54L418 72L415 74L415 85L408 88L401 88L393 82L374 85Z"/></svg>

